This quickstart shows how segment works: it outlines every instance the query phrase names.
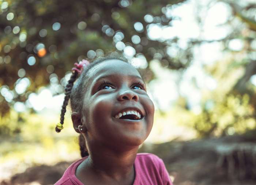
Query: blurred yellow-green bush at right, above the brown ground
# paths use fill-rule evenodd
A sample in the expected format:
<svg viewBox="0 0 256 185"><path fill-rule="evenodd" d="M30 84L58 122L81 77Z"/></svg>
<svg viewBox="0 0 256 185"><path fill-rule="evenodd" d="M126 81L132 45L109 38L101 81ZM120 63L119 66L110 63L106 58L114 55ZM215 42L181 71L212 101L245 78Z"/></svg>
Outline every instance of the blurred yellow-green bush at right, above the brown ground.
<svg viewBox="0 0 256 185"><path fill-rule="evenodd" d="M243 134L255 128L255 111L249 104L248 94L226 95L214 104L209 110L206 102L205 109L195 117L194 127L201 137Z"/></svg>

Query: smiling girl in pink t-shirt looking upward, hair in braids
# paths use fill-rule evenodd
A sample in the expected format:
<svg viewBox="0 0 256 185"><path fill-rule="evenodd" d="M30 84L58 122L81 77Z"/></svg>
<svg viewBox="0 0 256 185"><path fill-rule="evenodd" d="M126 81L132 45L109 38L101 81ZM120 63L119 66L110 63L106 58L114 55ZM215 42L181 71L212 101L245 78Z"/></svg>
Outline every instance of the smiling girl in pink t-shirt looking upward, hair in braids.
<svg viewBox="0 0 256 185"><path fill-rule="evenodd" d="M70 98L83 158L56 185L172 185L160 158L137 154L153 126L154 105L136 68L116 52L75 66L56 131Z"/></svg>

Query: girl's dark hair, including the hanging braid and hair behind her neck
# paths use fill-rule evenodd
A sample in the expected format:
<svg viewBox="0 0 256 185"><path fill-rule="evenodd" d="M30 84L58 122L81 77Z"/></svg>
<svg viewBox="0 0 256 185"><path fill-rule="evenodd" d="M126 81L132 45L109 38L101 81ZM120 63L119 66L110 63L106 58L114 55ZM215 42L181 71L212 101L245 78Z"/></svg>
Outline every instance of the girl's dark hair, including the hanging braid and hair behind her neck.
<svg viewBox="0 0 256 185"><path fill-rule="evenodd" d="M60 114L60 123L57 123L55 130L56 132L60 132L61 129L63 129L63 123L64 123L64 115L66 112L66 107L68 105L68 101L70 99L71 104L71 110L72 112L81 113L82 107L83 107L83 101L81 99L83 98L84 92L86 91L87 84L85 83L88 79L88 71L96 66L97 64L104 62L105 60L109 59L118 59L122 60L124 62L128 62L127 58L123 56L123 54L120 54L117 51L110 52L106 56L100 56L93 60L90 64L88 64L82 71L73 70L72 69L72 75L70 79L68 80L68 84L65 87L65 98L63 101L61 114ZM75 64L76 67L78 67L78 64ZM81 73L80 73L81 72ZM88 150L86 147L86 141L82 134L79 135L79 146L80 146L80 154L82 157L88 156Z"/></svg>

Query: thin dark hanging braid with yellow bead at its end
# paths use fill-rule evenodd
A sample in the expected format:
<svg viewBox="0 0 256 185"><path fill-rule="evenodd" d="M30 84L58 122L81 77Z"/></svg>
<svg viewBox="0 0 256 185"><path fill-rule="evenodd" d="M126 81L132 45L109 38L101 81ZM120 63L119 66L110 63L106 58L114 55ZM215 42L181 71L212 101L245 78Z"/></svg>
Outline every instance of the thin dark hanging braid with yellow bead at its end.
<svg viewBox="0 0 256 185"><path fill-rule="evenodd" d="M61 114L60 114L60 124L61 124L61 126L64 123L64 115L66 113L66 107L68 105L68 100L70 98L71 90L72 90L72 87L74 85L74 82L75 82L77 76L78 76L78 72L74 71L74 73L72 73L70 79L68 80L68 84L65 87L65 98L64 98L64 101L63 101L63 105L62 105L62 108L61 108ZM58 126L55 127L55 130L56 130L56 132L61 131L61 129L59 129Z"/></svg>

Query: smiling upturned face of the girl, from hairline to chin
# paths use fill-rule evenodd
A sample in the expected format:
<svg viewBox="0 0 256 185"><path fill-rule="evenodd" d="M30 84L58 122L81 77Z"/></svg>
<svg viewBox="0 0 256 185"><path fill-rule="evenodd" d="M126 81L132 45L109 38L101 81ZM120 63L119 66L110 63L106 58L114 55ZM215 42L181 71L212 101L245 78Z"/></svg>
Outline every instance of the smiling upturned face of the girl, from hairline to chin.
<svg viewBox="0 0 256 185"><path fill-rule="evenodd" d="M89 149L142 144L153 126L154 105L139 72L128 63L109 59L89 70L87 76L82 123ZM136 111L136 115L121 116L128 111Z"/></svg>

